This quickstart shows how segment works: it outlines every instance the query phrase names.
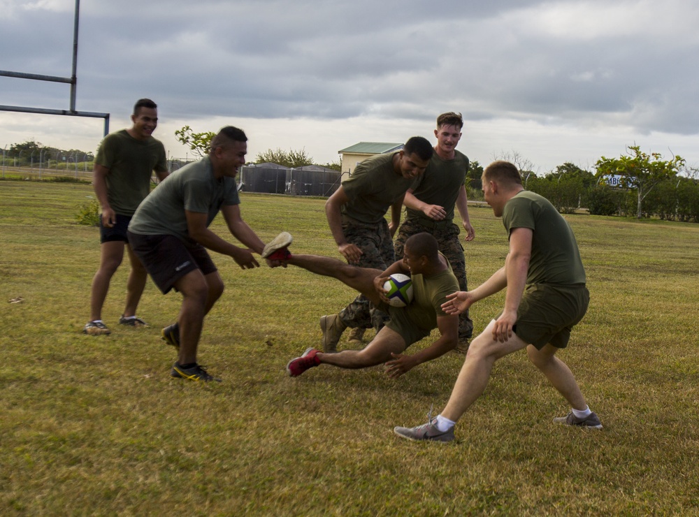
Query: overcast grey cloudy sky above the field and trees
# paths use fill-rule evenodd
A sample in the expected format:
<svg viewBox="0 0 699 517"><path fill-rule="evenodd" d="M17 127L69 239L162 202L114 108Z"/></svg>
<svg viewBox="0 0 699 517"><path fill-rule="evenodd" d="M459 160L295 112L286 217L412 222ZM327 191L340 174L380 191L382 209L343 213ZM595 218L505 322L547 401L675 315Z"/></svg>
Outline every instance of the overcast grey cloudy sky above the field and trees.
<svg viewBox="0 0 699 517"><path fill-rule="evenodd" d="M0 0L0 70L71 75L75 0ZM434 140L462 112L459 150L540 173L591 169L627 145L699 165L699 2L580 0L82 0L75 108L154 136L243 128L316 163L360 141ZM0 105L69 109L70 87L0 77ZM0 147L96 150L101 119L0 111ZM189 153L191 156L191 152Z"/></svg>

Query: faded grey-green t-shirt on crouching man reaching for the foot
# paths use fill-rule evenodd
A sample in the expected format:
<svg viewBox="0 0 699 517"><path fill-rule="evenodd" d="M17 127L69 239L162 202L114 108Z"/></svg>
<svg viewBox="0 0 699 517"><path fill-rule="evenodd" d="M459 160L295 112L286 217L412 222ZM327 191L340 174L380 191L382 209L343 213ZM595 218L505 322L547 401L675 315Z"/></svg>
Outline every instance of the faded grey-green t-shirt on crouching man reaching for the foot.
<svg viewBox="0 0 699 517"><path fill-rule="evenodd" d="M211 224L222 205L238 205L238 187L232 177L216 179L208 156L188 163L169 175L140 204L129 231L141 235L175 235L187 240L185 210L208 214Z"/></svg>

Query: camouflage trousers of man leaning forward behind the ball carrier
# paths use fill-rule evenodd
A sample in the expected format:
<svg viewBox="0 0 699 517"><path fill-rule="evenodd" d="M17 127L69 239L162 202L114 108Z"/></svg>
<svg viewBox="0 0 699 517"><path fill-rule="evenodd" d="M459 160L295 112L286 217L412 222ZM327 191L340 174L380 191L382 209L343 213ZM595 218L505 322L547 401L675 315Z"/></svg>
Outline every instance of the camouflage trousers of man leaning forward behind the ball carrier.
<svg viewBox="0 0 699 517"><path fill-rule="evenodd" d="M394 260L393 240L389 225L385 220L380 224L364 224L359 221L343 221L345 239L362 251L359 268L384 270ZM348 327L374 328L381 330L389 315L378 310L366 296L360 294L354 301L340 311L340 320Z"/></svg>

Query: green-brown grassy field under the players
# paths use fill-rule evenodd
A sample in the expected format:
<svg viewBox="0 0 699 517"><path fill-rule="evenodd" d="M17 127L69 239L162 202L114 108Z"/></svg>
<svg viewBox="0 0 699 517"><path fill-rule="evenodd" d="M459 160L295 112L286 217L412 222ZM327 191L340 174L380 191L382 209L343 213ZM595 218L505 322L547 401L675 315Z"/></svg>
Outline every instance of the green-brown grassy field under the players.
<svg viewBox="0 0 699 517"><path fill-rule="evenodd" d="M553 425L568 407L521 353L496 364L456 442L416 444L392 428L442 409L463 356L396 381L381 367L286 376L289 358L319 344L319 316L354 297L333 279L214 254L226 292L199 358L221 384L168 376L175 355L159 329L176 293L149 282L138 314L151 327L117 326L127 268L103 312L112 335L82 335L99 235L74 216L91 194L0 182L3 515L699 514L698 225L567 217L592 301L561 358L602 432ZM242 198L263 240L287 230L292 251L337 256L323 200ZM471 217L475 286L507 242L491 210ZM473 307L477 331L502 303Z"/></svg>

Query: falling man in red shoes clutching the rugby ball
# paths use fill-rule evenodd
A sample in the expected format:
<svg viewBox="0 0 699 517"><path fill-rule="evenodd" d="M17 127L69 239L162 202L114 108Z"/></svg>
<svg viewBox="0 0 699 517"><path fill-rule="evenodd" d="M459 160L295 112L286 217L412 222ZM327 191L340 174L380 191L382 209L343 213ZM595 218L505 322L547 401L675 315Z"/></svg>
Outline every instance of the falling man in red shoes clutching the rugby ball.
<svg viewBox="0 0 699 517"><path fill-rule="evenodd" d="M405 256L386 270L355 268L336 258L317 255L289 254L287 263L304 268L317 275L334 277L347 286L363 293L373 304L387 311L390 319L374 339L361 350L344 350L325 354L314 348L301 357L289 361L287 372L297 377L311 367L328 364L340 368L365 368L386 363L390 377L400 377L413 367L431 361L456 347L459 318L449 315L441 306L447 295L458 289L459 283L449 261L438 252L437 242L428 233L413 235L405 242ZM413 300L405 307L387 305L383 290L389 275L411 275ZM411 344L430 335L438 328L440 337L425 349L408 356L403 351Z"/></svg>

